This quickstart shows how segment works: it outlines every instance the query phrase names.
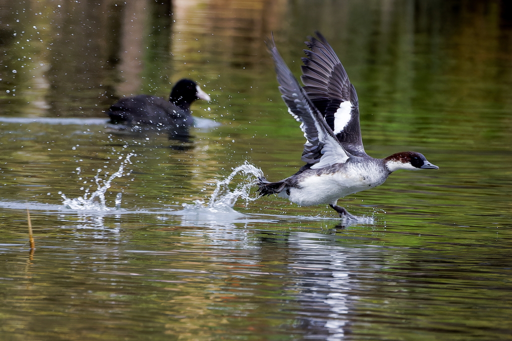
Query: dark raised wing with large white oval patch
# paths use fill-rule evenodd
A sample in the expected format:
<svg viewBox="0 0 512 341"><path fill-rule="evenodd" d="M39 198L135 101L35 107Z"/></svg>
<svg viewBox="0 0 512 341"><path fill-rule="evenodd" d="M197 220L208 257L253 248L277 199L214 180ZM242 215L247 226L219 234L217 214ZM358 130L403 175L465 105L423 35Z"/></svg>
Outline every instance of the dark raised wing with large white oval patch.
<svg viewBox="0 0 512 341"><path fill-rule="evenodd" d="M354 86L327 40L316 32L302 58L304 90L343 147L354 155L366 155L359 126L359 101Z"/></svg>

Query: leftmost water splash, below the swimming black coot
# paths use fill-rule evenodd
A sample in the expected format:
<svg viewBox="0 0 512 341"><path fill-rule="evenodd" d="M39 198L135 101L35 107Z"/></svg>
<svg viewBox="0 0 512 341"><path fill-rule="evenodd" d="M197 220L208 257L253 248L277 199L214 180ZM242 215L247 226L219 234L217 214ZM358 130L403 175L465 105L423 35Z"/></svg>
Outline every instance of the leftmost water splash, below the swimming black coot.
<svg viewBox="0 0 512 341"><path fill-rule="evenodd" d="M72 210L92 210L92 211L112 211L112 210L119 210L121 208L121 197L122 193L117 193L116 199L115 199L115 208L109 208L106 206L105 201L105 192L112 186L112 180L114 180L116 177L123 176L124 167L127 164L132 164L130 161L130 157L137 156L137 154L129 153L126 155L126 158L121 162L121 165L119 166L119 169L117 172L113 173L106 181L104 181L102 178L100 178L99 174L101 172L101 169L98 170L98 173L94 176L94 181L97 186L97 190L91 194L91 196L88 198L89 189L86 189L85 194L83 197L79 196L78 198L74 199L68 199L66 197L66 194L59 192L62 199L62 204ZM129 175L129 174L127 174ZM101 185L103 183L103 186Z"/></svg>

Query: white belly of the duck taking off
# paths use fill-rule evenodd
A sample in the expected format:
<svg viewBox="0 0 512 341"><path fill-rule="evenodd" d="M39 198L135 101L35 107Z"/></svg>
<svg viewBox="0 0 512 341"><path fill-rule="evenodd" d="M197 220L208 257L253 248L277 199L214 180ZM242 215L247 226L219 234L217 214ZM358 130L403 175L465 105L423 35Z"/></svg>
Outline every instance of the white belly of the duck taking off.
<svg viewBox="0 0 512 341"><path fill-rule="evenodd" d="M283 196L300 206L333 203L346 195L379 186L384 180L385 178L379 179L368 174L361 175L359 172L312 174L302 179L301 188L290 188L290 195L285 193Z"/></svg>

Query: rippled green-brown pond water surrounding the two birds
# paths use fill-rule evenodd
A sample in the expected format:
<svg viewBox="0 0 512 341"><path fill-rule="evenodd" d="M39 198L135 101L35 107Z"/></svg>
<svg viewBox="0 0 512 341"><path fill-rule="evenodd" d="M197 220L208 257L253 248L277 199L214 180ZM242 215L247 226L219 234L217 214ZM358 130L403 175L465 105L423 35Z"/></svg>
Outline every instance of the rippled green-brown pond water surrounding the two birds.
<svg viewBox="0 0 512 341"><path fill-rule="evenodd" d="M512 338L507 2L161 3L0 1L0 339ZM440 169L340 200L356 222L276 197L183 211L246 161L269 180L302 166L264 40L300 75L314 30L357 89L367 152ZM182 77L220 127L181 143L105 125L120 96ZM130 153L111 211L63 206Z"/></svg>

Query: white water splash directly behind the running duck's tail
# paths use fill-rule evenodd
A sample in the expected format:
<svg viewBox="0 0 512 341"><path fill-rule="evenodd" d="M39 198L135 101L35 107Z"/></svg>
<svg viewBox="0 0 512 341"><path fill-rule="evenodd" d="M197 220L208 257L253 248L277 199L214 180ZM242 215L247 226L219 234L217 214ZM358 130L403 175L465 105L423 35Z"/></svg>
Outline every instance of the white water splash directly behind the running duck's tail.
<svg viewBox="0 0 512 341"><path fill-rule="evenodd" d="M238 174L243 175L242 179L234 188L229 187L231 181ZM243 165L233 168L231 174L223 180L217 180L216 188L208 203L203 200L195 200L194 204L183 203L183 210L179 214L194 214L199 218L215 217L216 219L221 218L221 216L226 218L243 216L242 213L233 210L233 206L238 199L243 199L247 203L258 198L258 196L251 196L250 189L257 183L260 176L263 176L261 169L245 162Z"/></svg>

